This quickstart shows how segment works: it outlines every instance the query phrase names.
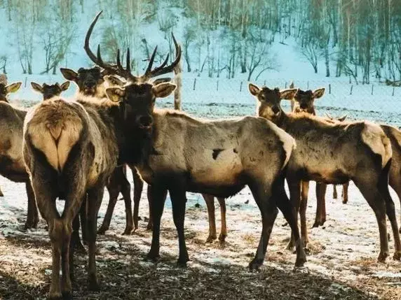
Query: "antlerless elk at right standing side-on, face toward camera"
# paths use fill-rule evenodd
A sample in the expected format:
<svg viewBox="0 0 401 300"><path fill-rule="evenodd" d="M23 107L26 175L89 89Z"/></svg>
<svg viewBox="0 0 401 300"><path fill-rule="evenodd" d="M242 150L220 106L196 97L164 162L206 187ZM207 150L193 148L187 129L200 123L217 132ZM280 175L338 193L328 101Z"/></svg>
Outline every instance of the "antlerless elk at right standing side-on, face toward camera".
<svg viewBox="0 0 401 300"><path fill-rule="evenodd" d="M291 134L297 148L287 166L287 183L291 201L297 211L301 202L301 181L342 184L353 180L374 210L379 224L379 262L388 257L386 214L393 229L395 253L401 258L400 234L397 228L393 199L388 191L388 173L391 165L391 143L381 127L369 122L337 124L308 114L285 113L281 99L292 99L296 89L270 90L249 85L250 93L257 98L257 112ZM306 216L301 212L301 236L308 243ZM292 248L292 242L289 248Z"/></svg>

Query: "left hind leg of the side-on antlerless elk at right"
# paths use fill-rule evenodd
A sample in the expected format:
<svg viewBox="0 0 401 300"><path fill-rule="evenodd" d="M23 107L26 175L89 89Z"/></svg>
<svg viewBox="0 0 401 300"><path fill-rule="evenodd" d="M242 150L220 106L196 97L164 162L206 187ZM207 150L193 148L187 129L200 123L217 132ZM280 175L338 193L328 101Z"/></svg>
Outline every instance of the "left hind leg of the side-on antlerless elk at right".
<svg viewBox="0 0 401 300"><path fill-rule="evenodd" d="M369 174L365 178L370 178ZM365 178L355 178L354 183L365 197L367 203L376 215L377 224L379 226L380 235L380 254L377 260L385 262L388 257L388 237L386 228L386 203L377 189L377 180L366 180ZM374 178L374 176L372 176ZM364 180L365 179L365 180Z"/></svg>

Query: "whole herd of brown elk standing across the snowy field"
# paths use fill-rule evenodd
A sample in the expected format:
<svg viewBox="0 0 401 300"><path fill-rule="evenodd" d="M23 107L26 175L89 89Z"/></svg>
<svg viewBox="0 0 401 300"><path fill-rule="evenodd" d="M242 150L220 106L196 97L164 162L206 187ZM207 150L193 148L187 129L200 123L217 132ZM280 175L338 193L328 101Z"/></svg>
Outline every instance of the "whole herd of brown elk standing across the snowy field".
<svg viewBox="0 0 401 300"><path fill-rule="evenodd" d="M90 36L101 13L90 24L84 44L95 67L61 69L69 80L62 85L32 83L32 88L43 94L43 101L29 110L15 108L7 100L7 95L16 92L21 83L0 83L0 174L26 185L25 227L37 226L37 208L47 222L53 259L51 299L72 298L74 251L86 251L79 236L80 227L82 240L88 245L88 288L99 290L95 264L97 234L109 229L120 193L126 214L123 234L138 228L144 181L148 185L148 229L152 229L147 258L151 260L159 257L161 216L168 192L179 240L178 264L185 266L189 261L184 236L186 192L198 192L205 198L208 241L217 238L217 197L222 212L219 239L224 241L225 198L247 185L262 221L250 269L258 269L264 262L278 210L291 229L287 248L296 249L295 265L304 266L310 180L318 183L314 226L325 222L327 184L348 187L352 180L377 219L379 262L389 255L386 216L393 231L393 258L401 259L395 205L388 190L390 184L401 199L398 129L316 116L314 101L323 96L323 88L303 91L292 86L280 90L250 84L250 94L257 99L257 117L203 120L177 110L158 109L156 101L168 97L176 86L170 78L154 78L174 71L181 59L180 45L172 36L176 56L171 64L167 56L160 66L153 67L155 49L144 74L135 76L130 68L129 49L125 66L121 64L119 50L116 63L110 64L102 59L100 46L96 54L90 49ZM71 81L79 92L66 100L60 94ZM282 100L292 102L292 113L285 113ZM135 185L133 214L127 167ZM285 180L290 199L285 192ZM109 192L109 205L103 224L97 229L104 187ZM347 201L348 192L344 191ZM65 201L61 215L56 199Z"/></svg>

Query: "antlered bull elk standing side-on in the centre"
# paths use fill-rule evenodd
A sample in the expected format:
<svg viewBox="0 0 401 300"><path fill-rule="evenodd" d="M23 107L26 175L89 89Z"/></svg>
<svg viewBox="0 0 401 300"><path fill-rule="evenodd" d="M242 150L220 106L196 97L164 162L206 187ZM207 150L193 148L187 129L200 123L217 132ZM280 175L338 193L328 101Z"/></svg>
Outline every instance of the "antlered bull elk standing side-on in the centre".
<svg viewBox="0 0 401 300"><path fill-rule="evenodd" d="M153 236L147 257L159 257L161 215L167 192L170 192L179 239L178 264L185 265L189 260L184 237L186 192L230 197L249 185L263 223L257 254L250 268L257 269L264 261L277 207L283 211L297 241L296 264L303 265L306 257L294 210L285 194L283 177L295 145L293 138L271 122L257 117L211 122L177 111L154 110L156 97L167 97L175 90L175 85L161 83L155 86L148 80L172 71L181 57L181 48L176 45L176 49L177 57L170 66L165 66L166 58L161 66L152 70L155 51L140 77L131 74L129 58L126 69L118 59L118 69L128 83L106 90L109 99L120 103L124 115L132 114L135 120L125 124L124 130L130 141L126 152L120 153L121 159L137 167L142 178L151 185ZM100 52L97 57L89 56L99 66L107 67Z"/></svg>

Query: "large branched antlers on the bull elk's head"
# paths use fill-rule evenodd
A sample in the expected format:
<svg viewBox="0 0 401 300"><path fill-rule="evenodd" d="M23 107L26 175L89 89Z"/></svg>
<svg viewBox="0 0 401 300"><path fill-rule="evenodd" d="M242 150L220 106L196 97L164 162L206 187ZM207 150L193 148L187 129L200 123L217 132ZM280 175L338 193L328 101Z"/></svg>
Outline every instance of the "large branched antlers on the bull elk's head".
<svg viewBox="0 0 401 300"><path fill-rule="evenodd" d="M160 66L156 67L155 69L151 69L154 63L154 58L156 56L156 50L157 50L157 46L154 49L154 52L151 55L151 58L149 60L149 65L144 73L144 75L142 76L133 76L131 73L131 62L130 62L130 48L128 48L127 50L127 64L125 69L123 68L123 66L121 65L121 59L120 59L120 50L117 50L117 64L107 64L105 62L103 62L102 60L102 56L100 55L100 45L97 45L97 55L95 55L92 50L90 50L90 46L89 46L89 39L90 39L90 35L92 34L93 28L95 27L95 24L97 22L97 20L99 19L100 15L102 14L102 10L100 10L99 13L97 13L95 19L93 19L92 23L90 24L90 27L88 29L88 32L86 33L86 37L85 37L85 45L83 46L83 48L86 51L86 54L88 55L88 57L90 58L90 60L92 60L92 62L94 62L95 64L97 64L97 66L100 66L101 68L103 68L105 71L107 71L107 73L113 73L119 76L122 76L123 78L130 80L132 82L146 82L147 80L149 80L150 78L159 76L159 75L163 75L165 73L170 73L174 70L175 66L177 66L177 64L179 63L179 60L181 59L181 46L178 45L174 34L172 35L172 40L174 41L174 45L175 45L175 52L176 52L176 56L175 56L175 60L174 62L172 62L170 65L167 65L168 62L168 55L167 57L165 57L165 60L163 62L163 64L161 64Z"/></svg>

